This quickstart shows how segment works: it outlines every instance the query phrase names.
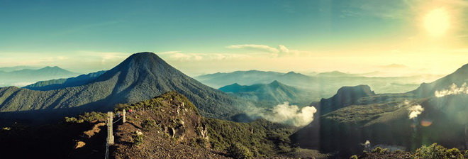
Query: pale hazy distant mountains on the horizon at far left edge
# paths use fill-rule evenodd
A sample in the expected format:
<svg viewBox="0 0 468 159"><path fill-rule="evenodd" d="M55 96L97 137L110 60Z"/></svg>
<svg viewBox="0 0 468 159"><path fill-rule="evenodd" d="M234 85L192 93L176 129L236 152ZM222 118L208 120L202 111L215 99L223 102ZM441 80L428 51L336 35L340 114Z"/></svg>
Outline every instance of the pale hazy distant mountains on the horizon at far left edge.
<svg viewBox="0 0 468 159"><path fill-rule="evenodd" d="M0 87L25 86L40 80L67 78L79 75L60 67L4 67L0 68Z"/></svg>

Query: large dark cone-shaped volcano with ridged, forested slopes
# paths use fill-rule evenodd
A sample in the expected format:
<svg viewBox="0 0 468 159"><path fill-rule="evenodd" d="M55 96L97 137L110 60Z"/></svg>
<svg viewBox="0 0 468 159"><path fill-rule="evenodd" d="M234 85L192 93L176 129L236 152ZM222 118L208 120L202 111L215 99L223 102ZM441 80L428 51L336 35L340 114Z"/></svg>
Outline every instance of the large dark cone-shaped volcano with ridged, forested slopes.
<svg viewBox="0 0 468 159"><path fill-rule="evenodd" d="M60 117L112 110L116 104L143 101L169 91L184 94L204 116L228 118L239 112L237 106L245 105L184 75L154 53L136 53L87 84L49 91L0 88L0 111L14 117L18 113L28 114L21 115L26 117L45 113Z"/></svg>

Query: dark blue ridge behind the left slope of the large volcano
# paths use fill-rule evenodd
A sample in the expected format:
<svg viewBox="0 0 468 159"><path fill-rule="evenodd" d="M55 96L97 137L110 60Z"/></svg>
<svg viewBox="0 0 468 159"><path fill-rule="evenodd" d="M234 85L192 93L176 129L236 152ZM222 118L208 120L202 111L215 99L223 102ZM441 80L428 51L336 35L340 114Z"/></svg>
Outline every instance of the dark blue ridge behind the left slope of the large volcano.
<svg viewBox="0 0 468 159"><path fill-rule="evenodd" d="M94 79L101 76L105 72L106 71L98 71L89 73L87 75L79 75L77 77L67 79L51 79L48 81L40 81L34 84L27 85L23 88L38 91L48 91L53 89L62 89L66 87L75 87L92 82Z"/></svg>

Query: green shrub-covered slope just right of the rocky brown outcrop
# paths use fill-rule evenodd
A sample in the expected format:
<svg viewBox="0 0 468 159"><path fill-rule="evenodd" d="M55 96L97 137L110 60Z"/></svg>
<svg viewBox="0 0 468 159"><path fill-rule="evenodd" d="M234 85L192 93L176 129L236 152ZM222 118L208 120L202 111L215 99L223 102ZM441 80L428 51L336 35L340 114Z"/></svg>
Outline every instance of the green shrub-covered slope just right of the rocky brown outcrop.
<svg viewBox="0 0 468 159"><path fill-rule="evenodd" d="M206 119L206 124L211 147L216 150L228 151L235 143L254 151L254 157L295 151L289 139L295 128L289 126L274 124L264 119L252 123Z"/></svg>

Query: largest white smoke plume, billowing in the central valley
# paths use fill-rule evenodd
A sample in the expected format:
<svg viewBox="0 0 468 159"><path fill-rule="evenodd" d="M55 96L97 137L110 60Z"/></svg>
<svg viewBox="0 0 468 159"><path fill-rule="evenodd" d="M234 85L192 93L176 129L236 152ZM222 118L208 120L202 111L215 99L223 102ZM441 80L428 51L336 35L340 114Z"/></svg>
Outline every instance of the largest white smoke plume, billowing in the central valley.
<svg viewBox="0 0 468 159"><path fill-rule="evenodd" d="M306 126L313 121L313 114L317 109L313 106L305 106L299 109L299 106L289 105L289 102L274 106L271 111L264 111L259 116L275 123L288 124L291 126Z"/></svg>

